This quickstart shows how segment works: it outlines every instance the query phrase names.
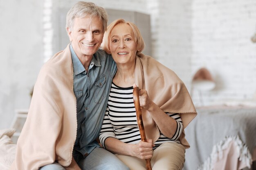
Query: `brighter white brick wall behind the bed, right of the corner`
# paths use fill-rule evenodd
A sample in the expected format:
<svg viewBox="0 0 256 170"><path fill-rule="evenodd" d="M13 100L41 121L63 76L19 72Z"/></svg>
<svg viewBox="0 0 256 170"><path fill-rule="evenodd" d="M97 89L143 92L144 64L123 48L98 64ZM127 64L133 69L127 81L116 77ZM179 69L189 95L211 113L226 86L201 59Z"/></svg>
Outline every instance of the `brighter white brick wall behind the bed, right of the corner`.
<svg viewBox="0 0 256 170"><path fill-rule="evenodd" d="M256 1L194 0L192 72L209 68L216 89L203 92L204 104L245 100L256 92ZM198 98L194 98L197 102Z"/></svg>

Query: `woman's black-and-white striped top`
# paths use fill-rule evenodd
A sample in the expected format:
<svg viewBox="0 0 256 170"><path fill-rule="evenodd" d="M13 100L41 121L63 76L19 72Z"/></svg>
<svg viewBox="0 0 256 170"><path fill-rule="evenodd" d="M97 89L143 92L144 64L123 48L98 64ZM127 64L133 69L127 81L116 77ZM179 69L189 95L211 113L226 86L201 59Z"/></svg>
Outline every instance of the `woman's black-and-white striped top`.
<svg viewBox="0 0 256 170"><path fill-rule="evenodd" d="M133 103L133 87L119 87L112 83L108 98L108 107L101 127L99 140L105 148L105 140L114 137L128 144L137 144L141 141L137 124L136 111ZM154 143L155 148L164 142L180 143L179 137L183 130L182 120L178 113L166 113L177 122L177 130L170 139L160 132L160 137Z"/></svg>

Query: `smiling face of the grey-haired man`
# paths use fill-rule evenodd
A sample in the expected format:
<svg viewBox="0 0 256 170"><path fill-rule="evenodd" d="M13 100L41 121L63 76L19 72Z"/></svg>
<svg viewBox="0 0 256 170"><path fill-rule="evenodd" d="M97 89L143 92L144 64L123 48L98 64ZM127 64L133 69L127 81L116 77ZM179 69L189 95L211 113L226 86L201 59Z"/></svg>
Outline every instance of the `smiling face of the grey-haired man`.
<svg viewBox="0 0 256 170"><path fill-rule="evenodd" d="M72 28L67 28L77 57L92 57L101 46L103 25L99 17L75 17Z"/></svg>

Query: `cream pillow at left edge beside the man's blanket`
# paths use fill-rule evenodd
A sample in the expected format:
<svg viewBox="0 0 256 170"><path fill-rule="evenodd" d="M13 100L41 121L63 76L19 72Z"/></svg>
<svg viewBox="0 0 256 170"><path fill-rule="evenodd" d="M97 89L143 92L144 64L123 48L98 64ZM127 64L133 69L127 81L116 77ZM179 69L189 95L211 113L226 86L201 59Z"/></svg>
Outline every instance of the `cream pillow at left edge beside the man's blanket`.
<svg viewBox="0 0 256 170"><path fill-rule="evenodd" d="M0 130L0 170L8 170L14 161L16 144L13 144L11 136L15 129Z"/></svg>

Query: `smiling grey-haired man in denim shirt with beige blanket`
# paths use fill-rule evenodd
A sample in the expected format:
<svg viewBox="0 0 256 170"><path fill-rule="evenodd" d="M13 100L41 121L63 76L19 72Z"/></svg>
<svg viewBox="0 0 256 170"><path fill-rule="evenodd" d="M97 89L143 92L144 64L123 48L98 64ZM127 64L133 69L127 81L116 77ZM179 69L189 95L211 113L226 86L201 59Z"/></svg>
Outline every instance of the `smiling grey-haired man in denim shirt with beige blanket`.
<svg viewBox="0 0 256 170"><path fill-rule="evenodd" d="M40 70L13 170L128 170L97 142L116 65L99 49L108 17L78 2L67 13L71 44Z"/></svg>

